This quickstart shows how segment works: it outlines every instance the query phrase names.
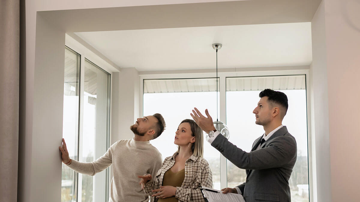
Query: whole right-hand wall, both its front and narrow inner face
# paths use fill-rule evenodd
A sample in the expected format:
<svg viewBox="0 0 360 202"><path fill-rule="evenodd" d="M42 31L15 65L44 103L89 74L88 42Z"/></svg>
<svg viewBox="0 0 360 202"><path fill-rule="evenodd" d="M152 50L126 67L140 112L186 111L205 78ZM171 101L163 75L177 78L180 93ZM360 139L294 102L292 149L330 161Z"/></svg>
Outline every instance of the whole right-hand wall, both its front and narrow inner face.
<svg viewBox="0 0 360 202"><path fill-rule="evenodd" d="M323 0L312 20L318 201L359 201L360 4Z"/></svg>

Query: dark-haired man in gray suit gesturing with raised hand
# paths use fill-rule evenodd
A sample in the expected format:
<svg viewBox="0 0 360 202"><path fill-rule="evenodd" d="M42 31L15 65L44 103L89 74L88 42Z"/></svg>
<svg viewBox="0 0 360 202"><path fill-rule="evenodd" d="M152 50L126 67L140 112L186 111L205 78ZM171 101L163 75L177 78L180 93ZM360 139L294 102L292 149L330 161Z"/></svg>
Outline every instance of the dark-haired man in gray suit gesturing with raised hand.
<svg viewBox="0 0 360 202"><path fill-rule="evenodd" d="M282 125L288 109L287 96L279 91L265 89L259 94L260 101L254 109L258 125L265 133L257 138L251 152L245 152L220 135L213 125L207 109L203 116L196 108L190 114L210 138L208 142L226 159L239 168L246 169L246 182L235 188L224 188L223 193L243 194L246 202L290 202L289 178L296 162L296 140Z"/></svg>

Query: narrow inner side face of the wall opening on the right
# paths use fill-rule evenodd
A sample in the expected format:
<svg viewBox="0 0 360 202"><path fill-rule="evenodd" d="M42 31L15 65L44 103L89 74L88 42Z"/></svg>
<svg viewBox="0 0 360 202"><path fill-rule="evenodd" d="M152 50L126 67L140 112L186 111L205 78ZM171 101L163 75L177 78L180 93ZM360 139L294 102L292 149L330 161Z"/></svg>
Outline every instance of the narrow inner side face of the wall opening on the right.
<svg viewBox="0 0 360 202"><path fill-rule="evenodd" d="M311 134L314 201L331 201L328 78L325 43L325 7L322 2L311 22L312 65L310 69ZM315 152L315 153L314 153Z"/></svg>

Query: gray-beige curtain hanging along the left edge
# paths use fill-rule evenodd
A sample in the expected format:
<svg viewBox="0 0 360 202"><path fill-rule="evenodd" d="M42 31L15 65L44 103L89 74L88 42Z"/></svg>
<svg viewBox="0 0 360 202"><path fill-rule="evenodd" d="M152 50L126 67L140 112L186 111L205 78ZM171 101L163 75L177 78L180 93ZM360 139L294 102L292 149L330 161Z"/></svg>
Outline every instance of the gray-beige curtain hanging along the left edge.
<svg viewBox="0 0 360 202"><path fill-rule="evenodd" d="M0 0L0 201L17 201L19 0Z"/></svg>

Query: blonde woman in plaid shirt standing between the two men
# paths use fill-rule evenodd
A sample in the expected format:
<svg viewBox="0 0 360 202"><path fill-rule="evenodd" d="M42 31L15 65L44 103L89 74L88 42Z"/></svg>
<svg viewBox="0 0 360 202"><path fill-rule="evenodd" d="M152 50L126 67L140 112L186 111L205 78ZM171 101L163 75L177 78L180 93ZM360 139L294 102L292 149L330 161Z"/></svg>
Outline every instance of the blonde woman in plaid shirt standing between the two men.
<svg viewBox="0 0 360 202"><path fill-rule="evenodd" d="M203 158L203 132L194 120L181 121L175 132L174 155L166 157L154 179L139 176L145 193L157 202L204 201L199 187L212 188L212 173Z"/></svg>

